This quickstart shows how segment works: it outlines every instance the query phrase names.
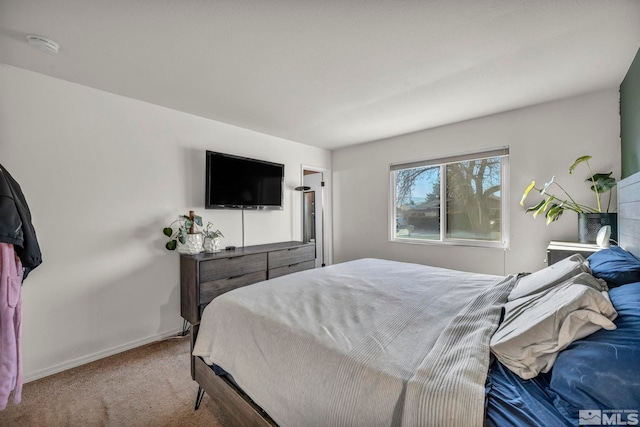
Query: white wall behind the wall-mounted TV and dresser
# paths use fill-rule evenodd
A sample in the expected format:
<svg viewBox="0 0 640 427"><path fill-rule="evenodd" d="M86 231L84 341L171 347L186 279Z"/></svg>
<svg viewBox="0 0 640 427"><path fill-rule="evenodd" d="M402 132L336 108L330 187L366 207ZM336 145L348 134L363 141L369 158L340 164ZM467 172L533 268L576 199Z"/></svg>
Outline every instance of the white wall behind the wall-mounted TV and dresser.
<svg viewBox="0 0 640 427"><path fill-rule="evenodd" d="M204 210L206 149L285 163L284 210L246 212L247 245L299 240L300 167L331 167L326 150L3 64L0 93L0 162L44 260L23 287L25 380L182 328L162 227L195 209L242 244L240 212Z"/></svg>

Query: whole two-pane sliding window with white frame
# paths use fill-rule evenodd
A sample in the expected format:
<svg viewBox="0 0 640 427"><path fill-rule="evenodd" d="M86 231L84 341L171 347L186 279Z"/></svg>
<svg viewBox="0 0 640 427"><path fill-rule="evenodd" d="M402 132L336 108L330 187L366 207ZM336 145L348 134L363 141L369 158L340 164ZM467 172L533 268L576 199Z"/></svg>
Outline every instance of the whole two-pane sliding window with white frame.
<svg viewBox="0 0 640 427"><path fill-rule="evenodd" d="M391 239L508 247L508 147L392 164Z"/></svg>

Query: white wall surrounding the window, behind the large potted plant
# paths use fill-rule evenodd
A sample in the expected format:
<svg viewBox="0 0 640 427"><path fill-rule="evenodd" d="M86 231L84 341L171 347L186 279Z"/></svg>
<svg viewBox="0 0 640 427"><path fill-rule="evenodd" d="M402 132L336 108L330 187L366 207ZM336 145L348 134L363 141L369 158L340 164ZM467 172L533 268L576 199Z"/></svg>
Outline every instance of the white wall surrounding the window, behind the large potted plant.
<svg viewBox="0 0 640 427"><path fill-rule="evenodd" d="M522 193L532 179L544 183L556 175L570 192L592 204L593 193L582 182L585 170L568 174L573 161L585 154L594 156L591 165L597 172L613 171L619 178L618 100L617 89L605 90L334 151L334 262L380 257L489 274L544 267L550 240L577 240L577 218L568 212L546 226L543 218L523 213ZM390 163L507 145L509 250L389 242Z"/></svg>

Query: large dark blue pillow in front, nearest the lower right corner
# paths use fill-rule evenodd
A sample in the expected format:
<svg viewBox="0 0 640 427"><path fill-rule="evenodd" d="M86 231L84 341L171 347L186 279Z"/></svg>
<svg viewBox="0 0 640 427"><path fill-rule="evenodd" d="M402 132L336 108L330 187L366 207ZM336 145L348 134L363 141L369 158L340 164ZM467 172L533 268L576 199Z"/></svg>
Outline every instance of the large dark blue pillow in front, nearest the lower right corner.
<svg viewBox="0 0 640 427"><path fill-rule="evenodd" d="M612 289L609 296L618 311L617 329L574 341L558 354L551 373L554 406L574 425L580 410L608 416L640 410L640 283Z"/></svg>

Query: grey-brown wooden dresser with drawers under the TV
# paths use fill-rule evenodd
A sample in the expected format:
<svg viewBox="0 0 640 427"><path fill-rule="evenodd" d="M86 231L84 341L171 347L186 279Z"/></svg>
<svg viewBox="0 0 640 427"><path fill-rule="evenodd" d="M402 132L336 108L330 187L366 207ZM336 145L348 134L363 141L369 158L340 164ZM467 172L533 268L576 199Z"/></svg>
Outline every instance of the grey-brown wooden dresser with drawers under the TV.
<svg viewBox="0 0 640 427"><path fill-rule="evenodd" d="M180 315L200 323L204 307L230 290L315 267L315 245L280 242L180 255Z"/></svg>

